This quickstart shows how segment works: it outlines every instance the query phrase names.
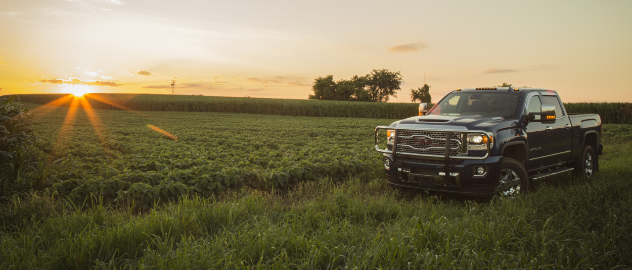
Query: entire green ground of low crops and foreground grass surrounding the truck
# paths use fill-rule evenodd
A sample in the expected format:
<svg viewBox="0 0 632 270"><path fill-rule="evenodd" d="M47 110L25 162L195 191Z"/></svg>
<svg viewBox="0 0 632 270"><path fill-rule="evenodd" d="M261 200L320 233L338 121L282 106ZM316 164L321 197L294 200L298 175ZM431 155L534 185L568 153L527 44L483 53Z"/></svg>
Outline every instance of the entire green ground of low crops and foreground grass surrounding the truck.
<svg viewBox="0 0 632 270"><path fill-rule="evenodd" d="M36 115L46 189L0 204L1 269L632 267L629 125L595 177L478 203L387 187L392 119L67 110Z"/></svg>

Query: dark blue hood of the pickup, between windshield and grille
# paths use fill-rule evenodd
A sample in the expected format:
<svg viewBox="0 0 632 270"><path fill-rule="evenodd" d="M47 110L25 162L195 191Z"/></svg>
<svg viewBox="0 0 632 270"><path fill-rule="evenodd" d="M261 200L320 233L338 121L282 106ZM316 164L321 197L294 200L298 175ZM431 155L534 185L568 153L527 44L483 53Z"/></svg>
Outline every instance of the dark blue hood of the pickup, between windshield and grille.
<svg viewBox="0 0 632 270"><path fill-rule="evenodd" d="M419 115L399 120L397 126L428 129L485 130L485 128L489 126L493 126L494 124L507 120L509 119L504 119L504 117L483 115L467 115L462 117L447 115Z"/></svg>

